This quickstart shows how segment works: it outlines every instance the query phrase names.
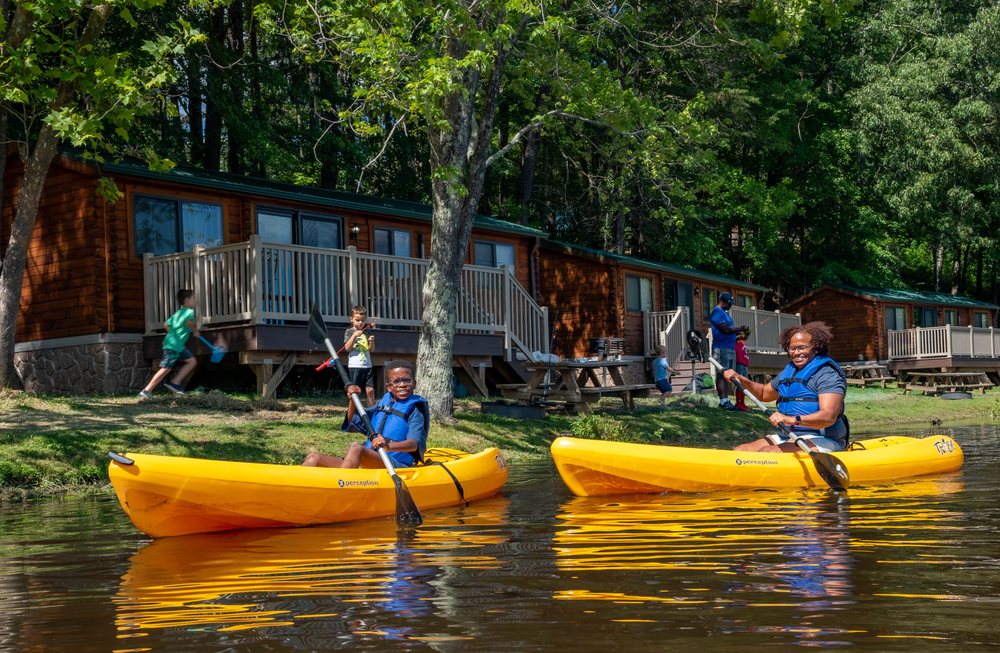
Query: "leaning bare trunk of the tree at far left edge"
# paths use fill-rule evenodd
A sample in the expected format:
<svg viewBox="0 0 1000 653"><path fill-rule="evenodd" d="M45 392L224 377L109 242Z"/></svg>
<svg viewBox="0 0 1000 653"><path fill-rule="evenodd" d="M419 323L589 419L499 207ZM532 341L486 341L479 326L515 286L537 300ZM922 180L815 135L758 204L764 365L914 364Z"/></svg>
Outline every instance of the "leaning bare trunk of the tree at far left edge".
<svg viewBox="0 0 1000 653"><path fill-rule="evenodd" d="M104 31L111 5L96 5L87 16L86 25L77 40L77 51L88 51L97 43ZM63 81L56 96L49 105L50 115L69 105L76 95L77 82ZM24 283L24 268L27 264L28 246L38 218L38 204L41 200L49 166L58 151L59 138L48 124L42 125L35 148L24 161L24 177L17 192L17 209L10 228L10 240L3 254L0 270L0 387L11 388L20 385L14 370L14 343L17 336L17 316L21 312L21 285ZM24 148L27 151L27 148Z"/></svg>

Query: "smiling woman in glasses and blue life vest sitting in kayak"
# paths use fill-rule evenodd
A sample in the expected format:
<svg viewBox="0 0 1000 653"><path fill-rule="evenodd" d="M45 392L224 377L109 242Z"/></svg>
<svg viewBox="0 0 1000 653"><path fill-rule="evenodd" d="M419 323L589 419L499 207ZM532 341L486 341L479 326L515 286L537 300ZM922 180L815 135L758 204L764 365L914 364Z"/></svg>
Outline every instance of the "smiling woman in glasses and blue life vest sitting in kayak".
<svg viewBox="0 0 1000 653"><path fill-rule="evenodd" d="M781 332L781 347L790 362L770 383L756 383L734 370L726 370L761 401L777 401L771 423L782 432L735 447L737 451L801 451L801 438L816 451L841 451L847 446L844 415L847 378L828 356L830 329L822 322L789 327Z"/></svg>

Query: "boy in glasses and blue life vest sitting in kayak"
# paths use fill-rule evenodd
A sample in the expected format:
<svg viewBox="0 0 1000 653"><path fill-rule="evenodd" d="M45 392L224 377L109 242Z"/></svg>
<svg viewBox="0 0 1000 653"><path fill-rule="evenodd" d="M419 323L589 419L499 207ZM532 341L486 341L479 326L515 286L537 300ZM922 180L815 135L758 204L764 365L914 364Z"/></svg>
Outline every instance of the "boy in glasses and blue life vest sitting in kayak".
<svg viewBox="0 0 1000 653"><path fill-rule="evenodd" d="M390 361L385 366L386 393L368 410L375 435L364 444L352 442L344 457L328 456L312 451L302 464L306 467L364 467L381 468L382 458L377 449L384 447L395 467L412 467L423 461L427 449L427 431L430 428L430 410L427 400L415 393L413 364L407 361ZM362 389L347 386L347 396ZM354 402L347 402L347 415L341 430L365 432L361 416L356 414Z"/></svg>

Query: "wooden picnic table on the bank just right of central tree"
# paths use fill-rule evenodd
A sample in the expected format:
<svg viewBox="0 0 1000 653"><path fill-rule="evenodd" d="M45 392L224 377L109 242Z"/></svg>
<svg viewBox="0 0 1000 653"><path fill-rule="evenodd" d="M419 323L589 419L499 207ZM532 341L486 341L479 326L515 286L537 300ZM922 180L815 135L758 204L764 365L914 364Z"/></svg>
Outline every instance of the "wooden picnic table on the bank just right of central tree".
<svg viewBox="0 0 1000 653"><path fill-rule="evenodd" d="M647 394L652 384L628 384L622 368L628 363L616 360L559 361L527 363L531 372L527 383L497 386L507 399L528 404L562 404L570 412L590 413L589 404L601 397L618 397L626 408L635 408L635 397Z"/></svg>

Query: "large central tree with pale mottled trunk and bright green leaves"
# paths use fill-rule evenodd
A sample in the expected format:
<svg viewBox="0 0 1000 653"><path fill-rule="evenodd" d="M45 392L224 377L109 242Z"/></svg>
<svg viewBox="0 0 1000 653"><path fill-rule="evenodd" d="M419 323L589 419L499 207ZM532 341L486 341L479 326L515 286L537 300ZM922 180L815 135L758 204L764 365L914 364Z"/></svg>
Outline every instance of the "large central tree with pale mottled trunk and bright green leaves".
<svg viewBox="0 0 1000 653"><path fill-rule="evenodd" d="M602 30L635 20L631 8L584 0L348 0L299 2L273 15L307 56L354 80L352 110L339 119L360 136L425 134L433 225L423 288L417 365L436 418L453 411L452 352L460 272L487 170L554 120L621 131L641 115L634 94L597 56ZM522 75L509 73L517 67ZM530 71L530 75L527 74ZM495 138L501 97L544 102L505 143ZM504 93L509 91L507 93Z"/></svg>

